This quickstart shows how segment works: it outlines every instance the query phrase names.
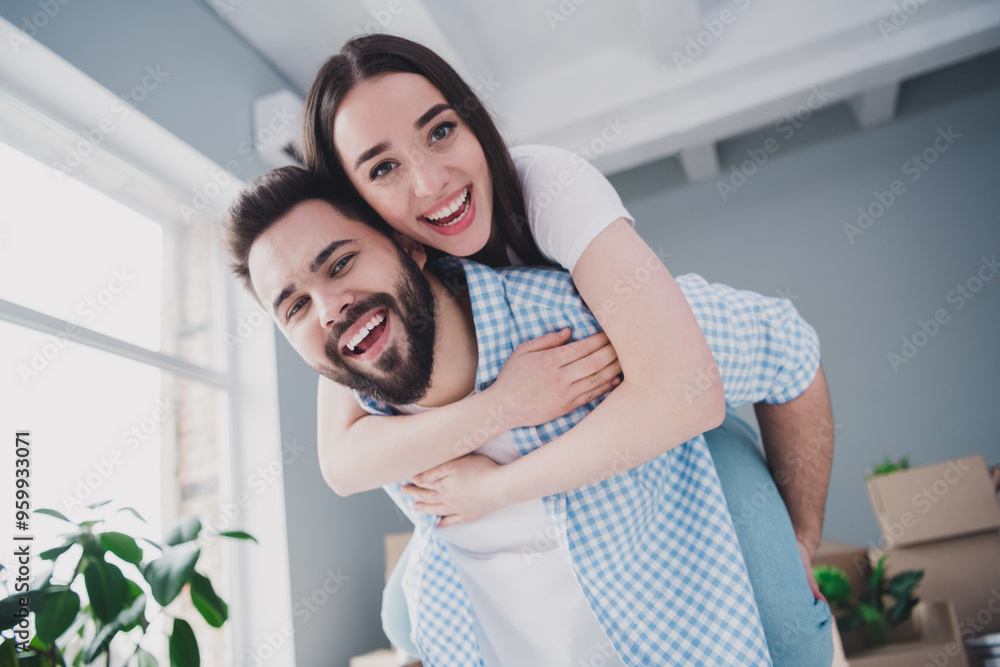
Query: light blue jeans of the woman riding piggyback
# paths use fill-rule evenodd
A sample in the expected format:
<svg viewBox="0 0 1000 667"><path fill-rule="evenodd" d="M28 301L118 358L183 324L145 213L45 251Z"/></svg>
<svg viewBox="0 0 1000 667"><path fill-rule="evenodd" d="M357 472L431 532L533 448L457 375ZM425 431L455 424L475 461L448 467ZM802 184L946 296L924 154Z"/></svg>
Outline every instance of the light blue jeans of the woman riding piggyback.
<svg viewBox="0 0 1000 667"><path fill-rule="evenodd" d="M788 510L756 446L756 435L734 413L705 434L736 526L768 650L775 667L830 667L830 607L813 599ZM382 627L394 646L419 653L410 641L403 597L407 546L382 595Z"/></svg>

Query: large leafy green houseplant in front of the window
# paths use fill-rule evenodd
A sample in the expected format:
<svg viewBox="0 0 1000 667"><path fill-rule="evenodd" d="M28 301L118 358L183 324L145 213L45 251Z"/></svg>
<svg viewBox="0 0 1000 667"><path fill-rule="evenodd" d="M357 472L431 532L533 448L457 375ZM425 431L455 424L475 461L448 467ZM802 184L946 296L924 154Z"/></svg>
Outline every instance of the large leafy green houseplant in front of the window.
<svg viewBox="0 0 1000 667"><path fill-rule="evenodd" d="M156 658L142 648L151 623L148 612L165 613L164 608L185 587L194 608L209 625L218 628L228 619L228 606L216 594L208 577L195 569L201 554L197 539L210 537L202 534L198 519L182 518L167 533L165 544L159 544L107 530L110 510L106 502L91 505L89 509L97 518L81 522L70 521L55 510L35 510L36 514L46 514L72 526L63 544L42 552L38 558L53 565L60 559L68 563L74 558L76 561L68 581L56 581L50 569L31 582L26 593L18 592L0 600L0 632L3 632L0 667L90 664L112 667L111 643L118 637L125 638L119 640L120 644L130 640L134 649L122 665L114 667L157 667ZM117 511L129 512L145 522L132 508ZM218 536L256 542L242 531L220 532ZM146 557L143 547L147 545L152 547L155 557ZM75 546L80 548L74 549ZM117 558L109 559L109 555ZM85 600L77 592L81 590L81 580ZM28 644L30 650L18 651L8 631L20 621L17 613L24 598L34 614L35 635ZM156 605L160 609L153 611ZM166 626L171 666L198 667L200 653L191 625L174 616Z"/></svg>

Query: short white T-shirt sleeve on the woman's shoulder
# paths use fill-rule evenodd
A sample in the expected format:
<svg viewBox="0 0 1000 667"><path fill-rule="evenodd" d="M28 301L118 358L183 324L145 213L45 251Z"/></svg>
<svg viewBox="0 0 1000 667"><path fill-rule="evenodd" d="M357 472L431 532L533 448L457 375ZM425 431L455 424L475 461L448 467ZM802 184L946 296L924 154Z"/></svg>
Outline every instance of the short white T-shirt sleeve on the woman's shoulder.
<svg viewBox="0 0 1000 667"><path fill-rule="evenodd" d="M521 177L535 243L545 257L568 271L612 222L625 218L635 224L608 179L576 153L525 145L510 154Z"/></svg>

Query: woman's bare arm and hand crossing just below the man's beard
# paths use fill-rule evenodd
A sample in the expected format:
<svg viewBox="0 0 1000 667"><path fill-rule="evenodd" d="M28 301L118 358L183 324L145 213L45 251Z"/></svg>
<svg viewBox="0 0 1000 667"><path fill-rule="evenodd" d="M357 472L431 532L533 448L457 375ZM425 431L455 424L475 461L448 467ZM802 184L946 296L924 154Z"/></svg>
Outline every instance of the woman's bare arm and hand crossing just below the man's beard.
<svg viewBox="0 0 1000 667"><path fill-rule="evenodd" d="M607 336L567 344L569 335L564 329L520 345L488 389L415 415L370 415L347 388L320 378L323 479L341 496L398 482L607 393L621 372Z"/></svg>

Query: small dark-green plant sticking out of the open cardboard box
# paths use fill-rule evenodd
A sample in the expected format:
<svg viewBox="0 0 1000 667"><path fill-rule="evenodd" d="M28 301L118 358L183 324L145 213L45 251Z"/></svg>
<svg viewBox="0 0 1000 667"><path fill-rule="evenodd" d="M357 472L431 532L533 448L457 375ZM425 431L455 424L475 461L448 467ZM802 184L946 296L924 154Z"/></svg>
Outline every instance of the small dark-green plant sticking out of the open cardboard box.
<svg viewBox="0 0 1000 667"><path fill-rule="evenodd" d="M885 562L888 556L878 559L878 564L868 579L868 588L853 600L851 582L839 567L817 565L813 568L820 592L826 597L837 615L837 628L846 632L863 627L879 646L889 641L889 630L901 625L920 602L914 595L923 570L906 570L893 577L886 577Z"/></svg>

